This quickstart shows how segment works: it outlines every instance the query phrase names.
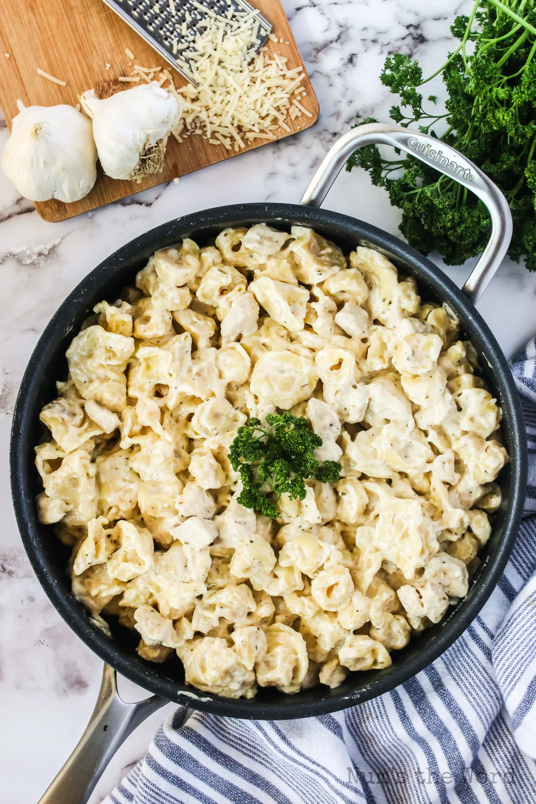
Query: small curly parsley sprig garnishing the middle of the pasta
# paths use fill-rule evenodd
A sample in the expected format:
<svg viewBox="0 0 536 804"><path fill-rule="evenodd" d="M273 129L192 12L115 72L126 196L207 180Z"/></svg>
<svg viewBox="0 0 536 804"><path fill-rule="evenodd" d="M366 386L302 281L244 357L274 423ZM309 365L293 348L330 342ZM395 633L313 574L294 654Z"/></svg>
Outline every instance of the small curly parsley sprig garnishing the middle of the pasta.
<svg viewBox="0 0 536 804"><path fill-rule="evenodd" d="M335 482L341 464L324 461L319 466L313 450L321 447L322 439L313 433L303 416L269 413L266 420L270 425L268 430L263 429L260 420L255 418L239 427L228 458L242 478L238 502L276 519L279 511L268 494L275 493L277 497L288 494L291 499L305 499L305 480L314 475L323 483Z"/></svg>

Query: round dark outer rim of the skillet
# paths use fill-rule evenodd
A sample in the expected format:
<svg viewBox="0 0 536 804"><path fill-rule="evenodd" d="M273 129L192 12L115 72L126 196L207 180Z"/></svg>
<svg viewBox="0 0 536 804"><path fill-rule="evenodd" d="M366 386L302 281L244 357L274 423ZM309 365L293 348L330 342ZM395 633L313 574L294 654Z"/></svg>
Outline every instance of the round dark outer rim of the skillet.
<svg viewBox="0 0 536 804"><path fill-rule="evenodd" d="M39 384L35 378L39 377L39 367L43 367L43 363L50 359L55 351L55 347L51 346L51 344L55 343L55 339L65 334L65 322L68 317L72 316L73 310L79 313L81 310L85 310L87 314L87 297L92 292L92 289L104 284L107 277L109 281L113 270L117 270L118 266L124 264L126 260L132 259L136 253L139 255L149 248L153 248L154 251L157 248L162 248L159 243L162 244L165 240L170 240L171 243L174 240L180 240L184 236L188 236L189 233L193 235L194 232L199 232L206 228L226 228L227 226L235 225L233 222L239 220L264 220L273 225L278 223L287 225L286 222L292 222L293 219L296 223L300 220L301 225L305 223L311 228L315 228L315 224L317 224L329 228L331 231L338 229L341 236L344 233L346 237L354 237L356 244L358 240L368 240L371 245L374 244L374 247L389 251L399 260L411 264L411 267L419 274L417 279L419 283L422 284L424 281L425 284L432 287L437 296L447 301L456 314L460 315L460 318L464 319L465 322L470 322L474 334L478 335L489 351L489 355L485 356L488 360L489 358L492 359L489 363L490 365L493 364L493 370L497 377L497 386L502 394L501 403L505 405L508 413L511 436L510 453L512 453L509 465L511 473L509 518L506 519L502 529L497 551L493 553L493 556L489 556L484 576L477 580L477 583L469 590L468 596L464 598L464 601L452 613L452 616L444 621L444 625L440 628L436 637L423 650L411 656L407 662L401 662L395 667L391 666L392 670L387 668L387 671L373 671L374 677L370 680L370 683L356 687L348 692L339 693L337 693L337 689L332 691L325 687L324 697L313 702L301 702L301 693L298 693L298 695L287 695L287 700L283 702L277 699L274 702L258 701L256 703L256 699L248 701L243 699L234 700L207 693L198 693L198 691L191 693L191 687L188 688L186 695L182 695L180 689L182 685L171 679L162 678L150 667L147 667L145 671L140 667L133 667L132 659L128 657L125 650L118 650L117 646L115 646L114 650L114 643L96 626L92 626L87 617L81 615L72 595L66 593L55 582L51 576L46 557L43 556L39 546L36 544L30 515L31 505L35 507L35 503L33 502L33 496L28 494L30 478L27 471L28 467L24 460L24 453L27 449L25 433L30 431L31 420L36 415L35 397ZM337 240L336 234L332 237ZM121 672L122 675L140 684L141 687L177 703L222 716L248 720L282 720L328 714L329 712L336 712L362 703L377 695L382 695L422 671L424 667L427 667L440 654L444 653L444 650L447 650L452 645L452 642L464 632L473 619L477 617L485 601L493 592L493 588L501 576L513 548L518 525L522 518L526 486L526 449L521 404L505 356L502 354L489 327L473 304L464 297L460 289L444 273L436 268L436 265L431 260L416 252L415 249L403 243L399 238L348 215L325 209L303 207L298 204L243 203L194 212L145 232L139 238L131 240L117 249L116 252L113 252L100 265L97 265L92 272L88 273L79 285L72 290L72 293L59 306L43 331L23 375L23 381L14 408L13 427L11 430L10 482L18 529L35 574L60 616L93 652ZM145 663L149 665L149 662ZM191 697L191 695L195 697Z"/></svg>

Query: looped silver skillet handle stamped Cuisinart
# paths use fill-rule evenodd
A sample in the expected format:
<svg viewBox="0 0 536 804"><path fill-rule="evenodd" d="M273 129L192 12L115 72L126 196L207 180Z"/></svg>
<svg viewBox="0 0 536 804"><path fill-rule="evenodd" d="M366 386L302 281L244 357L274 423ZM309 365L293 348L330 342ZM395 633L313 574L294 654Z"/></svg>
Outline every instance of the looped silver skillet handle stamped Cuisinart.
<svg viewBox="0 0 536 804"><path fill-rule="evenodd" d="M491 216L491 236L480 260L465 282L463 291L473 304L484 293L493 274L505 256L512 237L512 215L508 202L498 187L468 158L459 151L444 145L428 134L413 129L404 129L390 123L367 123L358 125L338 139L326 154L321 166L309 182L300 201L309 207L320 207L337 178L346 160L354 150L370 145L386 145L400 148L439 170L448 178L455 179L473 191L488 207Z"/></svg>

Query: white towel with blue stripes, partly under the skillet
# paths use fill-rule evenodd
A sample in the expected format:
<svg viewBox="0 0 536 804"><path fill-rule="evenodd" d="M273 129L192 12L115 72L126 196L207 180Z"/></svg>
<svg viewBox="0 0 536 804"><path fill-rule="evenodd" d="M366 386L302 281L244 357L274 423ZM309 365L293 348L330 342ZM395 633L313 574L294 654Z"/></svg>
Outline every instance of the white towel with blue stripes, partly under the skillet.
<svg viewBox="0 0 536 804"><path fill-rule="evenodd" d="M536 341L512 371L530 450L526 519L454 645L395 690L333 715L196 712L180 730L171 716L104 804L536 802Z"/></svg>

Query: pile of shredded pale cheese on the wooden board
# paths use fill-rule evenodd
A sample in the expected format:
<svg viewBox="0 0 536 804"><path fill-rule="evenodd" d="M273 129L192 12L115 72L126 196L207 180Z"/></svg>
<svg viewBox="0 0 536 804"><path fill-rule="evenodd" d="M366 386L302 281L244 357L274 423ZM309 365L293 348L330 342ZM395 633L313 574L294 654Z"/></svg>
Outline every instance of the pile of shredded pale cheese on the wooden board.
<svg viewBox="0 0 536 804"><path fill-rule="evenodd" d="M202 23L204 32L191 34L190 42L174 44L178 52L189 48L189 64L180 55L177 61L188 69L197 87L175 88L170 71L160 67L134 64L131 73L134 80L158 80L160 86L169 82L164 88L182 100L182 117L174 130L178 142L201 134L213 145L238 151L256 138L277 139L280 128L290 132L287 116L293 120L312 117L300 103L306 95L301 86L303 68L288 69L288 59L269 55L268 47L262 47L249 64L258 43L258 12L230 9L222 18L203 11L209 14ZM277 41L273 34L270 39Z"/></svg>

